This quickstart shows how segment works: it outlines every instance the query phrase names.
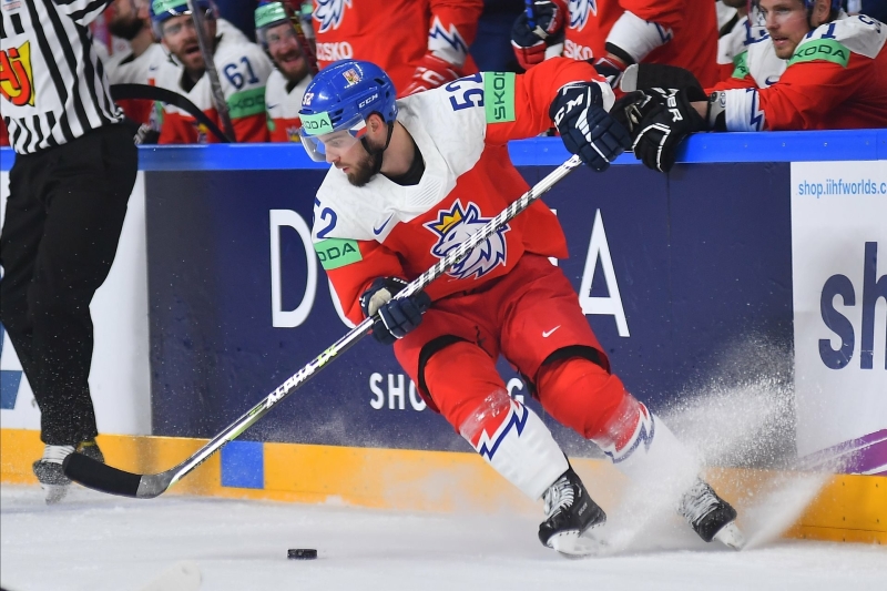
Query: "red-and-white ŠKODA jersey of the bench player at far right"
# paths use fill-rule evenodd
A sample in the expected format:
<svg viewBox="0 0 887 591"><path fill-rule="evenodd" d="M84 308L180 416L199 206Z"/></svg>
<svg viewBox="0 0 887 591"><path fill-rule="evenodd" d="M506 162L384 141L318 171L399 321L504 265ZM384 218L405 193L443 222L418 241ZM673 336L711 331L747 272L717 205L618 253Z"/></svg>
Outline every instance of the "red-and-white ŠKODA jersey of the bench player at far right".
<svg viewBox="0 0 887 591"><path fill-rule="evenodd" d="M714 88L734 89L724 93L727 130L887 128L885 42L887 26L865 14L822 24L777 83L764 88L746 75Z"/></svg>

